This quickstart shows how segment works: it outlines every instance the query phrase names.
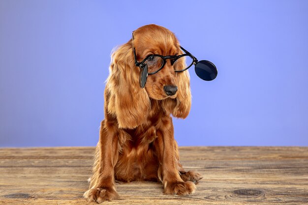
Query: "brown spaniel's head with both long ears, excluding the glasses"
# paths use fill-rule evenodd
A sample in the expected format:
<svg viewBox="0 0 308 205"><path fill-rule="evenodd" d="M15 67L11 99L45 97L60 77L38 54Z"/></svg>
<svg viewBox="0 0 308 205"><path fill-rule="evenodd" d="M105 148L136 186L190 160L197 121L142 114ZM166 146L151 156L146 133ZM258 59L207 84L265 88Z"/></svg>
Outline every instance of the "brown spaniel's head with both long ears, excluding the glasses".
<svg viewBox="0 0 308 205"><path fill-rule="evenodd" d="M134 46L139 62L153 54L181 55L183 52L176 36L157 25L143 26L133 33L133 42L130 39L112 54L105 91L105 99L108 98L105 111L117 117L121 128L134 128L144 123L151 109L150 99L161 101L166 114L187 117L191 105L189 74L187 70L174 71L175 66L184 68L185 60L178 59L176 63L171 63L170 59L166 59L164 67L149 75L145 88L140 88L140 68L135 65L133 53ZM149 66L149 73L151 69L155 68Z"/></svg>

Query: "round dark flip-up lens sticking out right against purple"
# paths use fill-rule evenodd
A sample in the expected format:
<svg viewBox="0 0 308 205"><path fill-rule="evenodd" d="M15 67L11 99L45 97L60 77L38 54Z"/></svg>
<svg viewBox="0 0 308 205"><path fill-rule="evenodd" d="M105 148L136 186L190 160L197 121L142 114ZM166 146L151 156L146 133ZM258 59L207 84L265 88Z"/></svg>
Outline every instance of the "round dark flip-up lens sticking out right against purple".
<svg viewBox="0 0 308 205"><path fill-rule="evenodd" d="M205 81L212 81L217 76L216 66L208 60L200 60L195 65L195 72L199 78Z"/></svg>

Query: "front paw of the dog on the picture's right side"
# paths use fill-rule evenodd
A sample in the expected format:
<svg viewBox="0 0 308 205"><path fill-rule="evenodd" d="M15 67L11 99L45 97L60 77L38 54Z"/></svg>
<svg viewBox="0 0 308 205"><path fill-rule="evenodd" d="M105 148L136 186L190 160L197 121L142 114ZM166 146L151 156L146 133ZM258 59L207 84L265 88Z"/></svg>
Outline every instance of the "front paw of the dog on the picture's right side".
<svg viewBox="0 0 308 205"><path fill-rule="evenodd" d="M191 181L166 182L164 194L185 196L194 193L195 190L196 185Z"/></svg>

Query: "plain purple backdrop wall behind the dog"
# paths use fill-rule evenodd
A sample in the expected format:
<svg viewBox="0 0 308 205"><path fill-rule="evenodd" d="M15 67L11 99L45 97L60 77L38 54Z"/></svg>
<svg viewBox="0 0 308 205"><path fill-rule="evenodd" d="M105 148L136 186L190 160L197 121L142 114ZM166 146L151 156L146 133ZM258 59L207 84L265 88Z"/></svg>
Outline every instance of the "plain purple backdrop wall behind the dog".
<svg viewBox="0 0 308 205"><path fill-rule="evenodd" d="M0 0L0 146L95 146L110 52L152 23L218 68L180 146L308 146L308 0Z"/></svg>

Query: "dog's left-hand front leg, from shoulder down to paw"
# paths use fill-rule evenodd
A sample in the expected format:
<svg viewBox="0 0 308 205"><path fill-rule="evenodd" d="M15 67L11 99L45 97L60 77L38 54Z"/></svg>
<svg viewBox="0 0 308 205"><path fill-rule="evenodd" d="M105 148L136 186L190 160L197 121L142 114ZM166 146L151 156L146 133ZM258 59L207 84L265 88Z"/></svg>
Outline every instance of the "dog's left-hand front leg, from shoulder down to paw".
<svg viewBox="0 0 308 205"><path fill-rule="evenodd" d="M112 123L103 120L99 131L90 189L84 194L89 201L101 203L119 198L114 179L114 167L118 155L118 129Z"/></svg>

